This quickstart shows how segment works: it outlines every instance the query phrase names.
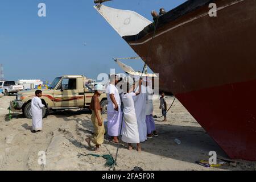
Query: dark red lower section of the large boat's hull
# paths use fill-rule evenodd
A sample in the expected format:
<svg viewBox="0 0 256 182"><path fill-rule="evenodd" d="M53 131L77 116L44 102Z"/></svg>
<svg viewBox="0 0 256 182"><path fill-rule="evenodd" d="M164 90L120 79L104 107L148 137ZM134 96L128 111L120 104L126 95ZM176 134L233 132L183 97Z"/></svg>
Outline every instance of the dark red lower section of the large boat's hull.
<svg viewBox="0 0 256 182"><path fill-rule="evenodd" d="M230 158L256 160L255 85L256 80L176 96Z"/></svg>

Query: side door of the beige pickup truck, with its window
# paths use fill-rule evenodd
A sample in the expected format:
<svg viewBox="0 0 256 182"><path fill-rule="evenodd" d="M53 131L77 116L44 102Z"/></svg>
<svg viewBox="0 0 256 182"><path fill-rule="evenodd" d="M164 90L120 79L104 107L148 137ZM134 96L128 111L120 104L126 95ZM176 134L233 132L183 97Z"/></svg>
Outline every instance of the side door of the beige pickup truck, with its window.
<svg viewBox="0 0 256 182"><path fill-rule="evenodd" d="M83 100L84 97L81 97ZM78 107L80 100L77 78L63 78L54 92L55 107Z"/></svg>

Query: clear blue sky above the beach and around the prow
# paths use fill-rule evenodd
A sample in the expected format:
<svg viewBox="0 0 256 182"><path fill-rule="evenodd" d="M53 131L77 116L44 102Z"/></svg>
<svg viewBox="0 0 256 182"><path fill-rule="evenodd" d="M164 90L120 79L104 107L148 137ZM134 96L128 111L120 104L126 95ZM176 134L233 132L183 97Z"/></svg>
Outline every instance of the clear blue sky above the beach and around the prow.
<svg viewBox="0 0 256 182"><path fill-rule="evenodd" d="M38 16L46 3L47 16ZM106 6L133 10L152 19L151 10L167 11L185 0L114 0ZM0 63L7 80L39 78L52 81L60 75L97 78L116 68L113 57L137 56L93 8L93 0L1 0ZM83 44L87 45L84 46ZM141 60L125 61L135 70Z"/></svg>

